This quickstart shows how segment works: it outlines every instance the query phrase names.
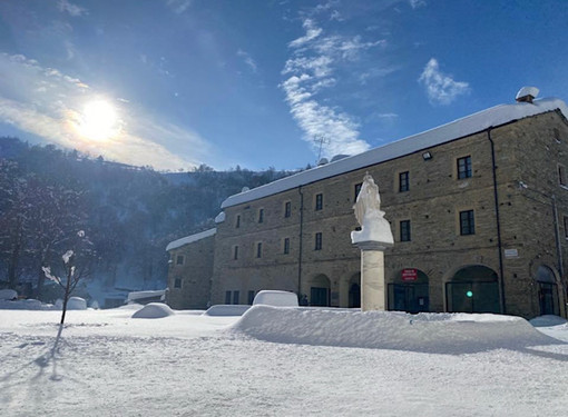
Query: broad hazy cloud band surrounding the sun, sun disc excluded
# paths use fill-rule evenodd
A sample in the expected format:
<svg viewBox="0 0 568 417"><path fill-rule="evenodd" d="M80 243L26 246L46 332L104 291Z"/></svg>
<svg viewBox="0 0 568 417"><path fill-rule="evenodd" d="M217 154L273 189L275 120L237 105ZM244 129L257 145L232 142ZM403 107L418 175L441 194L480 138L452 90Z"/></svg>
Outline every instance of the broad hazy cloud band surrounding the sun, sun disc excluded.
<svg viewBox="0 0 568 417"><path fill-rule="evenodd" d="M102 95L57 69L0 53L0 122L69 149L157 169L198 166L209 145L190 129L156 120L125 99L106 98L119 113L117 133L89 140L77 129L84 106Z"/></svg>

